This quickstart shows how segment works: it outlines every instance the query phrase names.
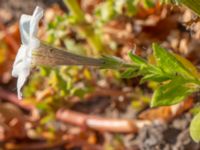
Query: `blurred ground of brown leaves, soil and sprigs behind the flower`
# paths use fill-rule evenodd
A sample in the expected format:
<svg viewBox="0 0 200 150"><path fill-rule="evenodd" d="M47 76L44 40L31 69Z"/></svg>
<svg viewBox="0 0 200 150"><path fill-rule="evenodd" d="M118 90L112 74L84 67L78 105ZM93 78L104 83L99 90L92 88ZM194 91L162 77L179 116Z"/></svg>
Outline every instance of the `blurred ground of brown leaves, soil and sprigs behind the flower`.
<svg viewBox="0 0 200 150"><path fill-rule="evenodd" d="M45 11L39 39L72 53L129 62L134 49L152 62L151 44L158 42L200 63L199 18L181 6L156 0L0 0L0 149L200 149L188 131L199 111L198 94L175 107L150 109L157 83L121 79L119 71L37 66L18 100L11 70L21 44L19 19L36 6Z"/></svg>

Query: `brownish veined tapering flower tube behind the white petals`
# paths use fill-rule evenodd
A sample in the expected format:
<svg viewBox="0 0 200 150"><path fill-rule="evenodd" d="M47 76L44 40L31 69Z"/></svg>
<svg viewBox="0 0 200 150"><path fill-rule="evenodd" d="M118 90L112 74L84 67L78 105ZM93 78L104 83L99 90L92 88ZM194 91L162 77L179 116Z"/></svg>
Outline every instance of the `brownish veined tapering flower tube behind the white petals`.
<svg viewBox="0 0 200 150"><path fill-rule="evenodd" d="M33 65L60 66L60 65L83 65L102 67L102 59L76 55L62 49L41 44L32 54Z"/></svg>

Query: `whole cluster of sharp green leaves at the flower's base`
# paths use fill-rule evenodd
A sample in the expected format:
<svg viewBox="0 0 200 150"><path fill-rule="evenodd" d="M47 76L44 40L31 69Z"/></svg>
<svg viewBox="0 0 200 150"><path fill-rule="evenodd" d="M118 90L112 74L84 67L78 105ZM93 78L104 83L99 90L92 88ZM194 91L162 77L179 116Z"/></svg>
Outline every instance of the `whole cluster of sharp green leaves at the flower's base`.
<svg viewBox="0 0 200 150"><path fill-rule="evenodd" d="M180 59L180 57L177 59L175 54L168 52L158 44L153 44L152 48L156 60L155 65L129 53L134 67L127 66L128 69L121 75L124 78L142 76L142 83L145 81L160 83L153 94L152 107L177 104L199 89L196 70L187 69L189 63L186 63L185 59ZM194 68L194 66L191 68Z"/></svg>

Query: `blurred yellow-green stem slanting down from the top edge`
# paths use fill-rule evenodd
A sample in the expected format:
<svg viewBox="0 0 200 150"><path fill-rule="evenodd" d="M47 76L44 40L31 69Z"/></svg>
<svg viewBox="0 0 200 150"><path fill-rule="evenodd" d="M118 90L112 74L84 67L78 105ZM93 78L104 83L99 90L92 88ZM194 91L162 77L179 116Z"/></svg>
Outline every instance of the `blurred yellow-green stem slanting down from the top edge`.
<svg viewBox="0 0 200 150"><path fill-rule="evenodd" d="M92 54L98 56L105 50L104 44L101 41L101 36L97 35L94 28L85 20L84 12L80 8L77 0L64 0L65 5L69 8L70 12L77 19L77 30L79 34L83 35L92 48Z"/></svg>

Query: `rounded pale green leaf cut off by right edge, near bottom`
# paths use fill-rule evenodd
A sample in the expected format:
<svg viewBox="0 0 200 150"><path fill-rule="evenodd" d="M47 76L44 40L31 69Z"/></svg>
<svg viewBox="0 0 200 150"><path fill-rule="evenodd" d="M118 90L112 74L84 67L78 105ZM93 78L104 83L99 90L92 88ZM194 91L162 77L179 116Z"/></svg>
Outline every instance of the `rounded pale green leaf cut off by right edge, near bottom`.
<svg viewBox="0 0 200 150"><path fill-rule="evenodd" d="M190 136L195 142L200 142L200 113L198 113L190 124Z"/></svg>

